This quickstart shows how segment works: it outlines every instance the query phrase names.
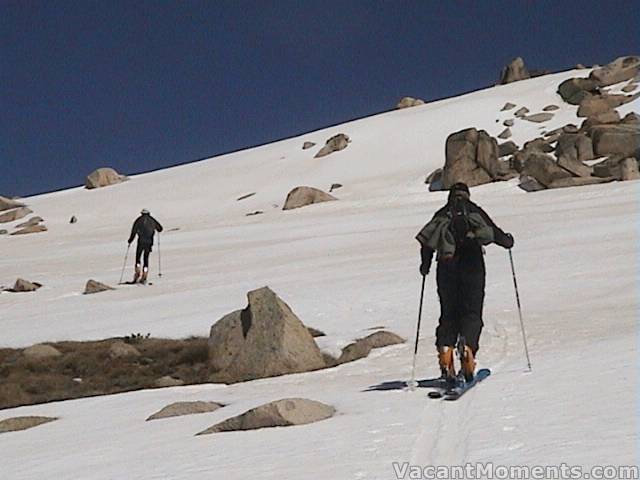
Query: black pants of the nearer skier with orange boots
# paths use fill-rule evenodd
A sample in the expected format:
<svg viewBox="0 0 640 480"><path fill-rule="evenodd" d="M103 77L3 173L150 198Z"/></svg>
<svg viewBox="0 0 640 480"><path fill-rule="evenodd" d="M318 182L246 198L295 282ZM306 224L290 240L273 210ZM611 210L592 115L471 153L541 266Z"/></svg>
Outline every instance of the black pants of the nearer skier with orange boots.
<svg viewBox="0 0 640 480"><path fill-rule="evenodd" d="M436 346L453 347L460 335L475 354L483 327L484 261L439 261L436 278L440 298Z"/></svg>

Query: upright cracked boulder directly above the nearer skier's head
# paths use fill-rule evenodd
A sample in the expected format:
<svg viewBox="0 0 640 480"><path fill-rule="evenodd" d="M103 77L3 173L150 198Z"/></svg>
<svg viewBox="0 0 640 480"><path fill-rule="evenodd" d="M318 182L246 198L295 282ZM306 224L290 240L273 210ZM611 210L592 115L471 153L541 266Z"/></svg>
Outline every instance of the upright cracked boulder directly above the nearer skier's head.
<svg viewBox="0 0 640 480"><path fill-rule="evenodd" d="M445 146L442 185L464 182L469 187L489 183L499 175L498 142L484 130L468 128L452 133Z"/></svg>

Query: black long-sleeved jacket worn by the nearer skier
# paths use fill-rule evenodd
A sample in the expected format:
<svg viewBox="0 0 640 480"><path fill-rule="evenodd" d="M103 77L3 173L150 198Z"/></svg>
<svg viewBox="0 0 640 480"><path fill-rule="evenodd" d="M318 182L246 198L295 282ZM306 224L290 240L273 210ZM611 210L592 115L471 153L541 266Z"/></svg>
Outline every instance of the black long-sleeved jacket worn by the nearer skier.
<svg viewBox="0 0 640 480"><path fill-rule="evenodd" d="M497 245L500 245L501 247L504 247L504 248L511 248L513 246L513 239L509 235L504 233L493 222L493 220L491 220L489 215L487 215L487 213L484 210L482 210L482 208L480 208L478 205L476 205L470 200L468 200L467 202L468 202L470 217L473 214L479 215L479 217L482 218L482 220L484 220L484 223L493 230L493 243L496 243ZM446 219L447 213L449 212L449 208L450 208L449 204L447 203L444 207L442 207L440 210L438 210L434 214L433 218L429 223L434 222L434 220L437 221L437 219L439 218ZM416 236L416 239L420 242L420 245L422 246L422 249L420 252L422 255L422 262L431 263L434 249L428 245L429 242L427 242L427 239L424 238L424 236L422 235L423 231L424 229L421 230L420 233L418 233L418 235ZM485 242L482 242L482 243L485 243ZM470 264L483 263L481 242L473 238L465 239L462 245L459 245L456 247L454 258L458 259L463 264L464 263L470 263Z"/></svg>

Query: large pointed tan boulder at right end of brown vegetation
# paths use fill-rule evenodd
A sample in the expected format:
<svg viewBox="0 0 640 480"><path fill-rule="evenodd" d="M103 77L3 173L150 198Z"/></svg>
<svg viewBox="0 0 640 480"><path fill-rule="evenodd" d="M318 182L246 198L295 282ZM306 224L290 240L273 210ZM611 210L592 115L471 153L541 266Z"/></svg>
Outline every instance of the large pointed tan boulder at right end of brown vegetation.
<svg viewBox="0 0 640 480"><path fill-rule="evenodd" d="M211 327L213 382L235 383L326 366L315 340L291 308L269 287L247 294L249 305Z"/></svg>

